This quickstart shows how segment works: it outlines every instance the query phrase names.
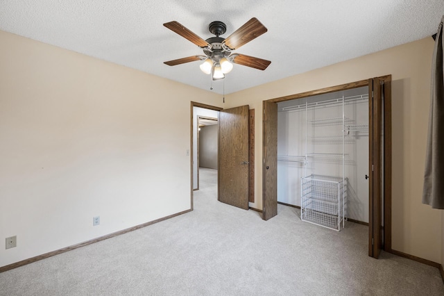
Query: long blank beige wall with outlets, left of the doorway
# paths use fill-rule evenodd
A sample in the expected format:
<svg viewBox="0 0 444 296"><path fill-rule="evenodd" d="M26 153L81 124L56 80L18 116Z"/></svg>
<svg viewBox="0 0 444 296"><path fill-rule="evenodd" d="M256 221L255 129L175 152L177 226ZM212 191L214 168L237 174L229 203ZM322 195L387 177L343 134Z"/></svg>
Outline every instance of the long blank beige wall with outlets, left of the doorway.
<svg viewBox="0 0 444 296"><path fill-rule="evenodd" d="M0 239L17 236L0 266L190 208L190 101L219 95L3 31L0 44Z"/></svg>

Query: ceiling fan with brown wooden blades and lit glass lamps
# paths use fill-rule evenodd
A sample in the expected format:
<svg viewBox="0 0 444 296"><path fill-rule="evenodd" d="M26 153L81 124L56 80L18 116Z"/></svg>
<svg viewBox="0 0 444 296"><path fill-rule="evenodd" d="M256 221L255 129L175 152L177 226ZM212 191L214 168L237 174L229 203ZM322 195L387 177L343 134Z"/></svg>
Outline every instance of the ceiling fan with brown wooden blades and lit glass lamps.
<svg viewBox="0 0 444 296"><path fill-rule="evenodd" d="M218 80L224 79L225 74L232 70L232 63L253 67L259 70L266 69L271 63L271 61L263 60L262 58L232 53L234 49L239 49L242 45L259 37L267 31L266 27L255 17L250 19L227 38L219 37L225 33L227 26L225 26L223 22L212 22L210 26L208 26L208 29L212 34L216 35L216 37L211 37L207 40L203 40L178 22L168 22L165 23L164 26L196 44L203 49L203 53L205 54L205 56L189 56L187 58L179 58L177 60L164 62L164 64L169 66L194 62L196 60L204 60L200 65L202 72L205 74L211 74L213 80Z"/></svg>

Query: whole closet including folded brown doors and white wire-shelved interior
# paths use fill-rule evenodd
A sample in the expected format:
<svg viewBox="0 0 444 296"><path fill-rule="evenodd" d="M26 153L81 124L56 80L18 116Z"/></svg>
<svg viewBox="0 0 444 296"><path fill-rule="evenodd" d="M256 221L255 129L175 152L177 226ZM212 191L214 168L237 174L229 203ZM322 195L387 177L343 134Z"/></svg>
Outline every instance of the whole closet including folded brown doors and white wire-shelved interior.
<svg viewBox="0 0 444 296"><path fill-rule="evenodd" d="M264 101L263 122L264 211L368 224L368 255L391 252L391 75Z"/></svg>

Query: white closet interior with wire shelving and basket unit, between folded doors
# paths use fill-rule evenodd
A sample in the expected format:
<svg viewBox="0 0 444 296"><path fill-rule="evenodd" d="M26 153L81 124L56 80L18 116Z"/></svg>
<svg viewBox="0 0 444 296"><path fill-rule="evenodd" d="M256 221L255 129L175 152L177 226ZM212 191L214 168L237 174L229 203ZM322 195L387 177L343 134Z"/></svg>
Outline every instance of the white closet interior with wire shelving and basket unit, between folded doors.
<svg viewBox="0 0 444 296"><path fill-rule="evenodd" d="M278 202L340 231L368 223L368 87L278 103Z"/></svg>

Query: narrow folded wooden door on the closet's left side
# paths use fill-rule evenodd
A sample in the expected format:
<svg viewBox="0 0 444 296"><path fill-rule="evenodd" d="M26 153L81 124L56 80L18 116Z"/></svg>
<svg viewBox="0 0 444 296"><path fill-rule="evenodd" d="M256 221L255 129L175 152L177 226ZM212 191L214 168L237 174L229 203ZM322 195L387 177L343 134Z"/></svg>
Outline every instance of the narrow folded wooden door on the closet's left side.
<svg viewBox="0 0 444 296"><path fill-rule="evenodd" d="M264 101L262 219L278 215L278 104Z"/></svg>

